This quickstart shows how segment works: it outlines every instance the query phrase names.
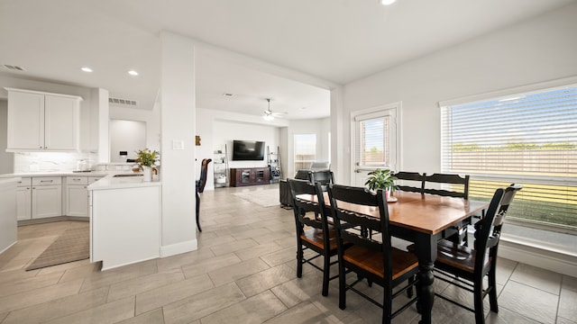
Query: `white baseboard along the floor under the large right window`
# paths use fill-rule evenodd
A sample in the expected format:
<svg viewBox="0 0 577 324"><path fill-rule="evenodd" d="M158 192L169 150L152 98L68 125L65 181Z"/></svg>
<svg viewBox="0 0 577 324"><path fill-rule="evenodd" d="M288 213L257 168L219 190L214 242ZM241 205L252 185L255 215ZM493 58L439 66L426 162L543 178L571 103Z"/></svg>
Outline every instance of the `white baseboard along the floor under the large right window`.
<svg viewBox="0 0 577 324"><path fill-rule="evenodd" d="M576 256L552 251L546 247L529 246L515 239L500 239L499 257L529 266L537 266L558 274L571 276L577 274Z"/></svg>

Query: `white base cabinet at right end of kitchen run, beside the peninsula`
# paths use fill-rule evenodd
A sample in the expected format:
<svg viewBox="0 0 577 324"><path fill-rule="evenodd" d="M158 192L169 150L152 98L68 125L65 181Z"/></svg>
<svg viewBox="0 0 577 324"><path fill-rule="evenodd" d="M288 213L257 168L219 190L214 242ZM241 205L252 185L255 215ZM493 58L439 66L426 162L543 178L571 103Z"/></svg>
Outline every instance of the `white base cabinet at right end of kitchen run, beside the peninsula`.
<svg viewBox="0 0 577 324"><path fill-rule="evenodd" d="M66 216L88 217L88 184L100 180L102 176L67 176L64 191Z"/></svg>

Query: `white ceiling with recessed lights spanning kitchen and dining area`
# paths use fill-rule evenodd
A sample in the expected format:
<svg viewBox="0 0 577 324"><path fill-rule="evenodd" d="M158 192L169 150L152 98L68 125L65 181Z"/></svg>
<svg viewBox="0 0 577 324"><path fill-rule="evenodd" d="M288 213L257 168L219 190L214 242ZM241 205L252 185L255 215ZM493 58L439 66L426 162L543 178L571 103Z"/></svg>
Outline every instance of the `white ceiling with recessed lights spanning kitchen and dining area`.
<svg viewBox="0 0 577 324"><path fill-rule="evenodd" d="M574 1L0 0L0 73L102 87L151 109L160 31L173 31L206 44L197 52L198 107L258 115L272 98L285 118L320 118L334 85Z"/></svg>

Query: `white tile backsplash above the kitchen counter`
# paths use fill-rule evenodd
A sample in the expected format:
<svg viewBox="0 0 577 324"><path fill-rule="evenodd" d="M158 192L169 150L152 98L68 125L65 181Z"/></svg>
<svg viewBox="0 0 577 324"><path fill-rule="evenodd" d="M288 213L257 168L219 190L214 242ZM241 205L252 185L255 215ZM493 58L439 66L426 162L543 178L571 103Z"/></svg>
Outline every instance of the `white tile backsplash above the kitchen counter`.
<svg viewBox="0 0 577 324"><path fill-rule="evenodd" d="M16 152L14 173L71 171L77 168L78 160L86 160L92 167L96 158L96 153Z"/></svg>

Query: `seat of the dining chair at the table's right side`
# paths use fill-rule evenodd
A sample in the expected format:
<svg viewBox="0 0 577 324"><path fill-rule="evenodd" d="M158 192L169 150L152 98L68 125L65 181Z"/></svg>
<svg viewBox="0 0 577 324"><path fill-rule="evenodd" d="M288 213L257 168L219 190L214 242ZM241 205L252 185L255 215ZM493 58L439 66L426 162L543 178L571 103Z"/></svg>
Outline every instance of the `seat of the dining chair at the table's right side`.
<svg viewBox="0 0 577 324"><path fill-rule="evenodd" d="M471 247L464 247L454 244L451 241L442 239L437 244L436 262L447 266L453 266L468 273L473 273L475 268L475 257L477 251ZM486 258L485 265L490 264L490 257Z"/></svg>

